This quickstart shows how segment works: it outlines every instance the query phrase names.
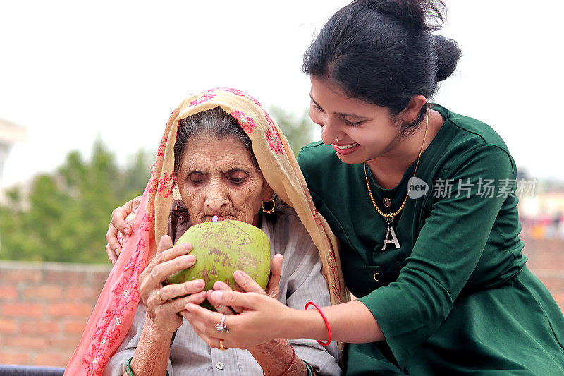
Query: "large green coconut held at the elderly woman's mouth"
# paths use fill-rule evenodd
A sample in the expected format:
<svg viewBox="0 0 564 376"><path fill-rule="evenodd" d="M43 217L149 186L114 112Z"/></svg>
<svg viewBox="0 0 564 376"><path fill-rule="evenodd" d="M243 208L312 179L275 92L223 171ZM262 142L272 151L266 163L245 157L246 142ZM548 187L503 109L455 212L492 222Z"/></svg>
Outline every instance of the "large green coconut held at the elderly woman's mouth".
<svg viewBox="0 0 564 376"><path fill-rule="evenodd" d="M203 279L204 290L223 281L235 291L243 291L233 278L235 270L249 274L262 289L270 278L270 241L258 227L240 221L203 222L191 226L176 244L192 243L190 255L196 263L168 277L166 284ZM204 304L212 308L207 301Z"/></svg>

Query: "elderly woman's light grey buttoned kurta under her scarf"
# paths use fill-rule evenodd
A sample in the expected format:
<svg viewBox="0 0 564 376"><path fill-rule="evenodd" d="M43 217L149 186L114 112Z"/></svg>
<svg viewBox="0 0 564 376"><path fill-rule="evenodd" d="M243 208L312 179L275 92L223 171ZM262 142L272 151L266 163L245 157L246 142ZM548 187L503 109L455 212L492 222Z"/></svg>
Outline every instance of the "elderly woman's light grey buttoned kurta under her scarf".
<svg viewBox="0 0 564 376"><path fill-rule="evenodd" d="M169 231L174 241L183 234L181 227L187 226L179 225L176 231ZM263 217L261 229L270 239L271 255L281 253L284 256L278 300L298 309L303 309L308 301L314 301L321 307L330 305L329 290L321 275L319 253L294 210L287 205L281 207L276 223ZM135 353L144 321L145 306L140 303L127 336L104 369L105 376L123 375L125 364ZM281 323L273 322L272 325ZM290 341L290 344L296 355L313 365L319 375L341 375L336 343L324 347L317 341L298 339ZM195 334L187 320L184 320L171 344L167 370L171 376L262 375L262 368L248 351L210 348Z"/></svg>

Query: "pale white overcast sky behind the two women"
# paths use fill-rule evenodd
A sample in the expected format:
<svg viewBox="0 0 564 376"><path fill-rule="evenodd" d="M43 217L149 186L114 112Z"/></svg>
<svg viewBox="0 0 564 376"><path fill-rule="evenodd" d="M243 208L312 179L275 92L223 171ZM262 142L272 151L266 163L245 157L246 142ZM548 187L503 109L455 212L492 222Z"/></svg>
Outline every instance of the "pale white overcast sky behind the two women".
<svg viewBox="0 0 564 376"><path fill-rule="evenodd" d="M0 0L0 118L25 126L2 185L52 171L99 135L121 162L153 149L189 92L237 87L309 106L302 54L348 1ZM489 123L517 165L564 179L564 2L449 1L464 57L435 102Z"/></svg>

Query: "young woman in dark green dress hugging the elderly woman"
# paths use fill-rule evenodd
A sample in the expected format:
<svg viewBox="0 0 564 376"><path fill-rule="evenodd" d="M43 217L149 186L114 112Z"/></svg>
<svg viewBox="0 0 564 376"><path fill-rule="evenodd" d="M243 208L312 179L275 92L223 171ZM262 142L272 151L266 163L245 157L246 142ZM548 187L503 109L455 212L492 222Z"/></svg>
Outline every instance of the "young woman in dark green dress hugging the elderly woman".
<svg viewBox="0 0 564 376"><path fill-rule="evenodd" d="M223 333L219 313L185 306L210 346L331 336L348 375L564 374L564 317L521 252L515 162L492 128L429 103L461 55L431 33L442 8L353 1L305 54L323 142L298 162L358 299L320 315L215 291L245 310Z"/></svg>

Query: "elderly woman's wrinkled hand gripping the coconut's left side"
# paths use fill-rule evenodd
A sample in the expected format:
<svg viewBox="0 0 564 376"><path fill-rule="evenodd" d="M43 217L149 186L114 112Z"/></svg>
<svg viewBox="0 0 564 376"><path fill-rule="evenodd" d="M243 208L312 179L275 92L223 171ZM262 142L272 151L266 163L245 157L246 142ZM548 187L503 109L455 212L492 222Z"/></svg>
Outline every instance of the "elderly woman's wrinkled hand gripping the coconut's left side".
<svg viewBox="0 0 564 376"><path fill-rule="evenodd" d="M162 286L168 276L195 264L196 258L188 255L191 250L190 243L173 246L171 237L163 236L157 255L139 277L141 298L147 308L147 320L152 322L152 328L157 334L172 335L183 322L183 317L177 313L183 310L187 303L200 304L206 298L202 279Z"/></svg>

